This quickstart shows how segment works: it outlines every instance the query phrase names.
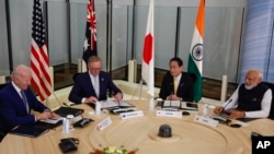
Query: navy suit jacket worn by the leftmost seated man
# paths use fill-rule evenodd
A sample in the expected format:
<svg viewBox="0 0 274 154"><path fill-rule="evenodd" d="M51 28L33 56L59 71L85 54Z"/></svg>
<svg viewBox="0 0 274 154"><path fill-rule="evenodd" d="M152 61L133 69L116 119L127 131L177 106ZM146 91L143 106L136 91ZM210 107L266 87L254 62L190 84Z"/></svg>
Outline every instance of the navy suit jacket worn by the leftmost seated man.
<svg viewBox="0 0 274 154"><path fill-rule="evenodd" d="M34 109L43 112L45 109L48 109L37 100L30 87L25 91L25 95L28 110ZM15 126L35 123L34 115L30 115L26 111L23 99L11 83L0 91L0 131L4 133Z"/></svg>

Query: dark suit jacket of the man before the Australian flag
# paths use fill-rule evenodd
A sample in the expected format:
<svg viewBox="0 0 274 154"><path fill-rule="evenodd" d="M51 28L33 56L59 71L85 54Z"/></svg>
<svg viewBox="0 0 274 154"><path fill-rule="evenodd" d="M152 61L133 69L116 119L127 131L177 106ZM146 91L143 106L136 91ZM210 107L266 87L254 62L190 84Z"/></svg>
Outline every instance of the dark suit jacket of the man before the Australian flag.
<svg viewBox="0 0 274 154"><path fill-rule="evenodd" d="M99 73L99 86L100 96L98 97L89 72L81 73L76 76L75 85L69 94L69 100L80 104L83 97L90 96L98 97L99 100L105 100L107 98L107 90L114 94L122 93L122 91L113 83L110 74L104 71Z"/></svg>

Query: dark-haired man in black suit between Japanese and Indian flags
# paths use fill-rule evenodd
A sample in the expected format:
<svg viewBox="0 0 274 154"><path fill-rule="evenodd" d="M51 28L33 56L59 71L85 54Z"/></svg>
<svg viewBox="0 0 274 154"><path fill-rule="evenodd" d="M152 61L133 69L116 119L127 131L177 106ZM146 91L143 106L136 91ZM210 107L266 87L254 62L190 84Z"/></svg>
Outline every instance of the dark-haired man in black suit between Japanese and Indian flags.
<svg viewBox="0 0 274 154"><path fill-rule="evenodd" d="M169 64L170 71L163 76L159 96L168 100L193 102L193 80L183 72L183 61L175 57Z"/></svg>

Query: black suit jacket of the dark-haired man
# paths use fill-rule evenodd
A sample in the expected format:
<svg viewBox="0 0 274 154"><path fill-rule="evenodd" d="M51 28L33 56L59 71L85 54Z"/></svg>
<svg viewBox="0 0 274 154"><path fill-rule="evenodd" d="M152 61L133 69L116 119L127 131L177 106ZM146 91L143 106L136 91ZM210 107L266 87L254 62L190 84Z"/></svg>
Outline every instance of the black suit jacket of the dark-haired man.
<svg viewBox="0 0 274 154"><path fill-rule="evenodd" d="M181 80L178 84L176 96L181 97L185 102L193 102L193 80L186 72L182 72ZM173 76L170 72L167 72L163 76L159 96L162 99L173 94Z"/></svg>

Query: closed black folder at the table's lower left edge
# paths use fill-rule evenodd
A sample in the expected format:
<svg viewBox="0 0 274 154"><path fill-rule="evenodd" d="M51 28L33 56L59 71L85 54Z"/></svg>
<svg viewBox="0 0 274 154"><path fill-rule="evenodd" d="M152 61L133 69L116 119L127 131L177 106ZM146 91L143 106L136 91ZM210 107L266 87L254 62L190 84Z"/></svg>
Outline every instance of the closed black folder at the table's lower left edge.
<svg viewBox="0 0 274 154"><path fill-rule="evenodd" d="M36 138L45 132L48 132L48 129L37 128L35 126L19 126L16 128L12 129L9 133Z"/></svg>

